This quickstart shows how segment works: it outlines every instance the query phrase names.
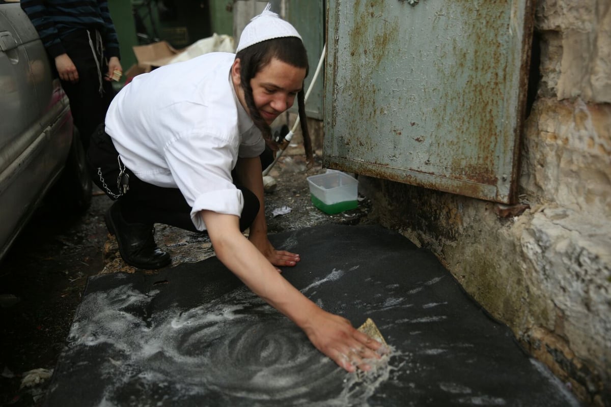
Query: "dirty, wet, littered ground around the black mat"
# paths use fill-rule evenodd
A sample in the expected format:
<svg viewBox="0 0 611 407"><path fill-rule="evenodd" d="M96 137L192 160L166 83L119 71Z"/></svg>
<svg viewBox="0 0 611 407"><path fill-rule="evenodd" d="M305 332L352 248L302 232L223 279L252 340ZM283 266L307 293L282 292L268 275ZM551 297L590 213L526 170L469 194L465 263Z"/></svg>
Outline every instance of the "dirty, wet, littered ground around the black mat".
<svg viewBox="0 0 611 407"><path fill-rule="evenodd" d="M335 215L312 205L306 178L325 171L321 152L316 153L314 167L305 171L302 146L293 145L269 173L277 181L276 189L265 195L269 233L372 222L366 198L359 198L358 209ZM65 345L87 277L140 272L120 260L114 238L108 236L104 212L111 203L96 190L92 206L80 217L60 217L41 207L0 263L0 406L42 405L46 376ZM278 212L282 214L274 215ZM170 250L174 265L197 261L197 253L205 251L198 248L207 242L205 235L159 225L156 239Z"/></svg>

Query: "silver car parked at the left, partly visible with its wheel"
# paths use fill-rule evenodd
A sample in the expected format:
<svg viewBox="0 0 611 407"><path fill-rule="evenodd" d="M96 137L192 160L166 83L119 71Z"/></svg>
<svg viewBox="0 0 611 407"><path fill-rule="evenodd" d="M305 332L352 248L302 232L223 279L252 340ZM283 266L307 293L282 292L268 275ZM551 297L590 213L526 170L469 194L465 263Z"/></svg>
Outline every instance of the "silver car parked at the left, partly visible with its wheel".
<svg viewBox="0 0 611 407"><path fill-rule="evenodd" d="M92 183L67 96L15 0L0 0L0 260L34 210L82 212Z"/></svg>

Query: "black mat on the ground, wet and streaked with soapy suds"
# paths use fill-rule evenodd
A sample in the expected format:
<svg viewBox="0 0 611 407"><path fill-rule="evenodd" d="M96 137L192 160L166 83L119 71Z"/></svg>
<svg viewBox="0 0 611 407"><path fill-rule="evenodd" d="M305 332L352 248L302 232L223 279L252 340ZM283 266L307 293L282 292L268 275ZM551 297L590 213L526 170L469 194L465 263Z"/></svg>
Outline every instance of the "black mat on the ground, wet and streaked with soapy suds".
<svg viewBox="0 0 611 407"><path fill-rule="evenodd" d="M380 226L272 236L283 275L393 347L346 373L216 258L90 278L46 406L577 406L430 251Z"/></svg>

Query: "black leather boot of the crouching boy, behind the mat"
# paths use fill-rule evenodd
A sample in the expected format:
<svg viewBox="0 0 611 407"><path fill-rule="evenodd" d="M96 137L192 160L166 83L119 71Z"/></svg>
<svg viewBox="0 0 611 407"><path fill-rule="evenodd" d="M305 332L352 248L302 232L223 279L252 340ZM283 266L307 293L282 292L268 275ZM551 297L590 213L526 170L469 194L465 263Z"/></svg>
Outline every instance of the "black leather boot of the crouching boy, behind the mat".
<svg viewBox="0 0 611 407"><path fill-rule="evenodd" d="M104 215L108 231L117 238L123 261L137 268L152 270L164 267L172 261L161 251L153 238L153 225L127 223L121 215L119 201L112 204Z"/></svg>

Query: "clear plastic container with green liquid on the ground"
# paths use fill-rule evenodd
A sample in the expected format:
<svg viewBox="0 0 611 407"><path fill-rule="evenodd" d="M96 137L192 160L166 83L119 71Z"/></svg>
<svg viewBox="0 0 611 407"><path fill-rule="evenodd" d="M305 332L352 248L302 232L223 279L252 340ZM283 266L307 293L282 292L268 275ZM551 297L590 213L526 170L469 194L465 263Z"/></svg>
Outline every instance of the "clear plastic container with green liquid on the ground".
<svg viewBox="0 0 611 407"><path fill-rule="evenodd" d="M307 182L312 203L326 214L338 214L359 207L356 199L359 181L342 171L312 175Z"/></svg>

